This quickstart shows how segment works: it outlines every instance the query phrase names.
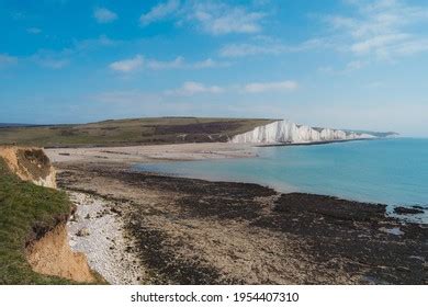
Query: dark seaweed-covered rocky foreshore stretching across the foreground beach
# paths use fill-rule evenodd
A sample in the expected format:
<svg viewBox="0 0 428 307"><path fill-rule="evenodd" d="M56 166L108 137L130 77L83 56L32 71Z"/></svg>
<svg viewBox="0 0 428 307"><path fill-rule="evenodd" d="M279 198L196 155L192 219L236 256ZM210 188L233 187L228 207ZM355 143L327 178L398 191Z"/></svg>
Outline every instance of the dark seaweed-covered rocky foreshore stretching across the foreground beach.
<svg viewBox="0 0 428 307"><path fill-rule="evenodd" d="M112 162L57 167L61 189L114 204L116 230L129 238L119 250L136 261L114 269L135 278L115 283L428 284L427 225L383 205Z"/></svg>

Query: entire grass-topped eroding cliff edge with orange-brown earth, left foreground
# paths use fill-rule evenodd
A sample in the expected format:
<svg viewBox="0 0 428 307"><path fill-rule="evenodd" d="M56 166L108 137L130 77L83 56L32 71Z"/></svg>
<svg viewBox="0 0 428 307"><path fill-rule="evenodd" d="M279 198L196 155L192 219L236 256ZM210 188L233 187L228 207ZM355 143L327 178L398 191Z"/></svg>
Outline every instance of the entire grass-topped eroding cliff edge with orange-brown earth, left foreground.
<svg viewBox="0 0 428 307"><path fill-rule="evenodd" d="M55 169L44 151L0 147L0 284L97 282L86 255L68 245L74 208L55 189Z"/></svg>

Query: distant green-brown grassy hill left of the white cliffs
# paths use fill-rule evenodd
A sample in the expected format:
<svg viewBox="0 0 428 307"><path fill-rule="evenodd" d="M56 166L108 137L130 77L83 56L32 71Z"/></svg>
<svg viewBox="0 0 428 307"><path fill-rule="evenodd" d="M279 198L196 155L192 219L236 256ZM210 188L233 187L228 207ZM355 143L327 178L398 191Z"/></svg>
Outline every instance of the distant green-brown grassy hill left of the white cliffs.
<svg viewBox="0 0 428 307"><path fill-rule="evenodd" d="M0 128L0 144L42 147L226 141L271 120L161 117Z"/></svg>

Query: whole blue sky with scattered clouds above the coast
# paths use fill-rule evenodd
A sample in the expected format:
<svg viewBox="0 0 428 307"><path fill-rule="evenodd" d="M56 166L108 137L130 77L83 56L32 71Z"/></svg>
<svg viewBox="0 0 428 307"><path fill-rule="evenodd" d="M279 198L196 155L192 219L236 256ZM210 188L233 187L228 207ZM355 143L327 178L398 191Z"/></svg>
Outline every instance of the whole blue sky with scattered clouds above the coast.
<svg viewBox="0 0 428 307"><path fill-rule="evenodd" d="M428 136L428 3L0 0L0 123L194 115Z"/></svg>

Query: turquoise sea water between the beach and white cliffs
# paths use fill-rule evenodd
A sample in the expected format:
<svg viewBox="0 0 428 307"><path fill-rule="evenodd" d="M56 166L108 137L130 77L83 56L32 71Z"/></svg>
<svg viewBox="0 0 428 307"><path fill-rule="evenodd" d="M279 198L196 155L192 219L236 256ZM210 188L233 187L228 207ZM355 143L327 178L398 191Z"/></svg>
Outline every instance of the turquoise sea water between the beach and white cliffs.
<svg viewBox="0 0 428 307"><path fill-rule="evenodd" d="M257 158L138 164L140 171L252 182L281 192L428 206L428 139L392 138L257 148ZM391 208L390 208L391 209ZM428 221L425 215L416 219Z"/></svg>

